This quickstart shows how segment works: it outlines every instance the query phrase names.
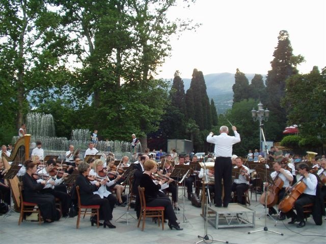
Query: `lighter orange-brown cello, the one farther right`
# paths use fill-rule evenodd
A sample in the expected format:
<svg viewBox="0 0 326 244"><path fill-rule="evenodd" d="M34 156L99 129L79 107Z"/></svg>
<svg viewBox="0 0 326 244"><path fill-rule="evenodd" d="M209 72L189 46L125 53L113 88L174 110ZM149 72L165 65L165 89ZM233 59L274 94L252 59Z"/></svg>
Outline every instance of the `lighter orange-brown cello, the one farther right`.
<svg viewBox="0 0 326 244"><path fill-rule="evenodd" d="M279 210L288 212L293 208L296 199L298 199L307 188L307 185L303 181L304 178L305 176L302 176L300 180L291 187L290 193L279 203Z"/></svg>

